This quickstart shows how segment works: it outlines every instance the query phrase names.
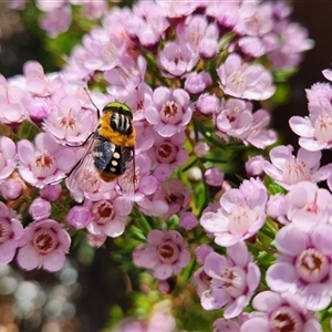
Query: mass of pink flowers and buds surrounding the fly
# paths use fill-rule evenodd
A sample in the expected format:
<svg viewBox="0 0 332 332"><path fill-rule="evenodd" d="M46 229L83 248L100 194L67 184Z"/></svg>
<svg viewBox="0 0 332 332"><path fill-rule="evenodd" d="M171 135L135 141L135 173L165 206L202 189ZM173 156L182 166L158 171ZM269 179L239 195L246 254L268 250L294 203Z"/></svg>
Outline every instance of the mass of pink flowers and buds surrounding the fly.
<svg viewBox="0 0 332 332"><path fill-rule="evenodd" d="M62 3L80 3L55 2L38 1L50 13L44 27L52 33L68 28L68 22L51 24L59 17L55 11L68 10ZM84 203L65 210L64 227L86 229L95 247L124 232L132 212L124 208L128 197L121 181L125 177L104 183L94 169L86 168L79 188L70 180L63 187L54 184L76 165L84 153L82 143L96 128L96 112L84 91L91 82L106 89L107 94L91 93L100 108L117 100L133 110L137 210L166 220L178 216L177 230L146 234L147 243L134 251L134 263L152 270L159 289L167 290L167 280L190 261L185 235L197 228L200 218L208 237L227 247L226 256L209 246L196 250L203 267L194 281L201 305L222 309L226 320L238 318L216 321L215 331L225 331L226 325L229 331L270 331L270 326L281 331L284 324L295 326L291 331L320 331L313 311L329 305L332 290L332 248L326 240L332 232L332 196L312 181L328 179L332 187L332 168L320 168L320 149L331 144L326 122L332 87L313 86L308 91L310 117L291 120L301 135L297 158L287 146L270 152L271 163L252 158L246 165L252 177L239 188L224 186L227 191L220 201L204 206L201 214L189 188L173 177L188 162L190 149L206 184L219 186L224 181L220 169L207 169L210 164L206 164L206 156L217 147L212 142L240 142L258 148L276 142L276 133L267 128L269 113L255 110L251 101L274 93L273 75L267 68L278 72L297 66L302 52L312 46L305 29L290 21L290 12L282 1L141 1L132 10L106 13L102 25L84 35L62 72L44 74L39 63L28 62L24 75L8 81L1 76L1 123L24 133L20 125L28 121L40 133L34 144L0 139L1 195L10 203L31 198L33 193L28 210L33 221L25 228L13 210L0 206L4 216L0 218L0 262L10 262L19 248L18 262L23 269L61 269L71 238L60 226L64 220L51 219L55 218L52 203L68 204L69 194ZM269 197L259 178L264 174L289 193ZM262 274L246 240L268 227L267 218L280 226L278 232L273 227L269 230L277 232L279 252L277 262L266 267L272 291L257 294L252 302L257 311L243 314Z"/></svg>

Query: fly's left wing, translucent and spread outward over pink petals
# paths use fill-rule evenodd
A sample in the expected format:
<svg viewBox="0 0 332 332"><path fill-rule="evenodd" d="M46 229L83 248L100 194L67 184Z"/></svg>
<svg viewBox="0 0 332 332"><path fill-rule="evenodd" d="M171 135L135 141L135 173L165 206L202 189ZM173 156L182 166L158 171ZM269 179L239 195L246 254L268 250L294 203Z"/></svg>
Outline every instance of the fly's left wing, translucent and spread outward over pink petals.
<svg viewBox="0 0 332 332"><path fill-rule="evenodd" d="M87 142L82 157L65 179L65 185L71 196L79 203L84 200L86 193L94 191L100 186L100 174L94 166L94 149L96 144L96 135L93 135Z"/></svg>

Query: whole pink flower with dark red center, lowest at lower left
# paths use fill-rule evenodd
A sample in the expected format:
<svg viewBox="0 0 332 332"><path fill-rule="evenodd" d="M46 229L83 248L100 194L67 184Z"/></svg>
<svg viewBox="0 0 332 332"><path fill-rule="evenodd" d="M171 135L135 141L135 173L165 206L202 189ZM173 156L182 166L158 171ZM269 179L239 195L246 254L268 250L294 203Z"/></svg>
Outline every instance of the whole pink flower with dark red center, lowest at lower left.
<svg viewBox="0 0 332 332"><path fill-rule="evenodd" d="M18 263L28 271L35 268L59 271L64 266L70 245L70 235L55 220L34 221L19 240Z"/></svg>

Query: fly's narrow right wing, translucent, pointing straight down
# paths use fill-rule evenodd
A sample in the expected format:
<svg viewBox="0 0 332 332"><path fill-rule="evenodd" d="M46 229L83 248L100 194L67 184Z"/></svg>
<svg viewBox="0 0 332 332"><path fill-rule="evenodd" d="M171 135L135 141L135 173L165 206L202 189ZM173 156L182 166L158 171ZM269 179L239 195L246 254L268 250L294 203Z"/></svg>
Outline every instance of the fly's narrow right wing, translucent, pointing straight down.
<svg viewBox="0 0 332 332"><path fill-rule="evenodd" d="M120 194L123 197L124 211L132 211L135 203L135 148L124 147L121 157L124 174L118 178Z"/></svg>

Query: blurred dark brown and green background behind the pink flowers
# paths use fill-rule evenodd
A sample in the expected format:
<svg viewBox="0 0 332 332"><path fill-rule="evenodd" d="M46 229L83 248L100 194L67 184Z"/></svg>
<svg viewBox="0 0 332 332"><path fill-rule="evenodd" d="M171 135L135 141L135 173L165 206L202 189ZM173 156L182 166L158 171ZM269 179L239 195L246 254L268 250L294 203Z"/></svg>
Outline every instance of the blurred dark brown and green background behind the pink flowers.
<svg viewBox="0 0 332 332"><path fill-rule="evenodd" d="M132 2L113 1L110 6L125 7ZM280 93L290 97L273 111L272 126L286 144L297 146L288 120L307 113L304 89L323 81L321 71L331 64L332 29L326 24L331 21L332 2L297 0L293 8L293 20L309 29L315 48L305 54L299 73L283 85ZM20 74L28 60L39 61L45 72L58 71L82 35L95 24L74 8L71 29L50 39L38 25L40 14L33 1L22 12L0 2L0 73L6 77ZM129 246L120 251L123 241L129 241ZM0 331L111 331L123 318L143 317L160 301L160 295L152 277L132 268L134 246L135 239L123 237L108 239L98 250L80 241L66 267L54 274L42 270L23 273L14 263L0 266ZM173 294L164 299L173 301L173 311L180 318L178 328L186 331L208 331L207 326L220 315L200 309L196 291L185 278L179 278ZM167 307L167 302L163 303Z"/></svg>

